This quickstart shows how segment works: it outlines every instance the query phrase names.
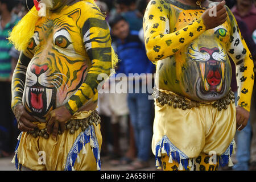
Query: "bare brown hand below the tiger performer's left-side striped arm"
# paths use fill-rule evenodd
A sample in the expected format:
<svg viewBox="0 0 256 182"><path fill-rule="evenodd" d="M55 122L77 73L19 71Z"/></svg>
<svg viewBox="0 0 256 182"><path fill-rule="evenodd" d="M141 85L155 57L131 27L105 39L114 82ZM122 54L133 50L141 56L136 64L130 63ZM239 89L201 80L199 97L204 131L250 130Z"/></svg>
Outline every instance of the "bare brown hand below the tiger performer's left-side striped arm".
<svg viewBox="0 0 256 182"><path fill-rule="evenodd" d="M13 113L17 119L18 129L20 131L27 132L37 128L37 126L34 125L32 122L38 120L28 114L22 104L14 106Z"/></svg>

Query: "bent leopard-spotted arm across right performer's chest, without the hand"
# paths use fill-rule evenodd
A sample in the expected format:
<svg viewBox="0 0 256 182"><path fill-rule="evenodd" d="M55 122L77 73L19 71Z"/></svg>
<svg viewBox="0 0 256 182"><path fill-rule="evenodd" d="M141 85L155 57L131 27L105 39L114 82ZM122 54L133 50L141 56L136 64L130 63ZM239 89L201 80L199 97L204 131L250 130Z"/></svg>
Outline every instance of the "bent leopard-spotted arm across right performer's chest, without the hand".
<svg viewBox="0 0 256 182"><path fill-rule="evenodd" d="M164 1L150 1L144 14L144 41L148 59L158 61L174 55L186 44L191 43L205 30L203 19L170 32L170 22L177 19L177 10ZM174 23L175 23L174 22Z"/></svg>

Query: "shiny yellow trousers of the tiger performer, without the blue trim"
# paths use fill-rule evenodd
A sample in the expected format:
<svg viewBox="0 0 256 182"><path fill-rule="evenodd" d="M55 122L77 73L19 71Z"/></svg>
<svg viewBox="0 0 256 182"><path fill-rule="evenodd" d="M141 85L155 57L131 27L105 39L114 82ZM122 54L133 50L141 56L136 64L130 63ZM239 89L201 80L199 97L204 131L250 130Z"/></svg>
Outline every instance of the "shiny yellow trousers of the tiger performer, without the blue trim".
<svg viewBox="0 0 256 182"><path fill-rule="evenodd" d="M96 126L94 123L92 125L96 136L94 139L97 139L96 144L98 146L97 152L100 154L100 147L102 143L102 137L100 132L100 125ZM86 132L87 130L85 130ZM48 139L43 137L32 137L32 135L27 134L26 132L22 133L20 138L20 143L17 152L18 162L29 169L32 170L64 170L67 164L67 158L72 150L73 144L76 142L79 134L84 133L81 131L81 128L75 131L74 134L70 134L69 130L61 135L57 135L56 139L52 138L51 135ZM94 141L95 142L95 141ZM86 143L85 152L82 152L80 148L79 157L76 158L75 165L73 169L76 171L85 171L85 170L97 170L97 160L94 157L92 151L93 141L90 138L90 142ZM95 143L94 143L95 144ZM77 150L75 146L75 151ZM83 154L85 153L85 154ZM45 160L43 163L43 155ZM70 169L70 167L69 167Z"/></svg>

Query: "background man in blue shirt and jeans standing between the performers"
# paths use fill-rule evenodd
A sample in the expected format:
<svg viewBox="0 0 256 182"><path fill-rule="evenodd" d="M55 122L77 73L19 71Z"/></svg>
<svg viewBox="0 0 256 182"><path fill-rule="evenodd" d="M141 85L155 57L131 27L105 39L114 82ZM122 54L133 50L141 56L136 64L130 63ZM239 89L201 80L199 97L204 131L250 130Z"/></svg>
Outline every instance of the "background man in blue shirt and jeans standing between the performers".
<svg viewBox="0 0 256 182"><path fill-rule="evenodd" d="M112 34L117 37L115 47L117 47L119 67L123 68L126 76L129 73L154 73L155 67L148 60L144 44L138 37L138 31L130 31L129 23L121 15L115 15L109 20L112 27ZM149 166L148 160L151 154L151 115L152 101L148 100L148 94L142 93L141 84L134 86L134 77L129 88L133 86L133 93L128 93L128 107L130 111L131 123L134 129L135 143L137 146L137 160L129 166L129 170L141 169ZM130 85L133 84L133 85ZM139 93L135 89L139 88Z"/></svg>

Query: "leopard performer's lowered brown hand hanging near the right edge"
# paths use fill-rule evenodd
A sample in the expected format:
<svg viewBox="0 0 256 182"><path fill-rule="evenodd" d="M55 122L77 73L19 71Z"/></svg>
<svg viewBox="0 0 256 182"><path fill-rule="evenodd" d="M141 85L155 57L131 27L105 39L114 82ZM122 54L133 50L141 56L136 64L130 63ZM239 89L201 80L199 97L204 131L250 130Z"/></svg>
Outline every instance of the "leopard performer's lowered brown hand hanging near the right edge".
<svg viewBox="0 0 256 182"><path fill-rule="evenodd" d="M241 106L236 107L237 110L237 129L241 131L247 125L250 113Z"/></svg>

